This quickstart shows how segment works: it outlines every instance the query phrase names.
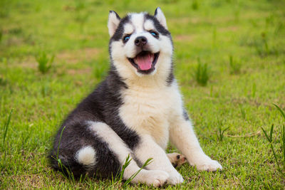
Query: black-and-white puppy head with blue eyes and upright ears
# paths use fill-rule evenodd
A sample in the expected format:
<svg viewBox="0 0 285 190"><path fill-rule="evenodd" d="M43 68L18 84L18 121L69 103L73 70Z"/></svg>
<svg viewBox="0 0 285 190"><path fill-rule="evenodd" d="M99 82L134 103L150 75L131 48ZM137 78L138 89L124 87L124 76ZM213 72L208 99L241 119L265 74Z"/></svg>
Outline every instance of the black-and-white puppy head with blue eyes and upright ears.
<svg viewBox="0 0 285 190"><path fill-rule="evenodd" d="M160 8L155 16L128 14L123 19L110 11L108 28L110 58L119 73L155 75L171 68L172 39Z"/></svg>

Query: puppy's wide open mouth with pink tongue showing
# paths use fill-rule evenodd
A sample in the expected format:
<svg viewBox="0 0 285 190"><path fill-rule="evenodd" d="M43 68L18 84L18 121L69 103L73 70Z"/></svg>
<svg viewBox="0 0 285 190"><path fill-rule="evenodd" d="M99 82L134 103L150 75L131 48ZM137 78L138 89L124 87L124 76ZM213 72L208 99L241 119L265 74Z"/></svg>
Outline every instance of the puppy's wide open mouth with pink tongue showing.
<svg viewBox="0 0 285 190"><path fill-rule="evenodd" d="M150 51L142 51L135 58L128 58L128 60L137 68L138 73L149 74L155 70L155 63L159 55L159 52L151 53Z"/></svg>

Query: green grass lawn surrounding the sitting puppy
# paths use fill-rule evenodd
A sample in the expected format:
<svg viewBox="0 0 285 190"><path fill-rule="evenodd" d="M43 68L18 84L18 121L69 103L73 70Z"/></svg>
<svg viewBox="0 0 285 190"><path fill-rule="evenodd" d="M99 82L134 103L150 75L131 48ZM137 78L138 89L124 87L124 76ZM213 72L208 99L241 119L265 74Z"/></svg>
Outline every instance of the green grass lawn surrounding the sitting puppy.
<svg viewBox="0 0 285 190"><path fill-rule="evenodd" d="M285 110L285 2L277 0L0 1L0 189L148 189L72 181L48 167L46 156L63 118L107 73L108 11L153 13L157 6L172 32L175 74L199 141L224 167L210 173L185 164L178 169L185 183L165 188L284 189L284 118L272 105ZM44 75L39 51L55 55ZM197 58L211 71L204 86L192 75ZM270 135L271 125L269 142L261 127Z"/></svg>

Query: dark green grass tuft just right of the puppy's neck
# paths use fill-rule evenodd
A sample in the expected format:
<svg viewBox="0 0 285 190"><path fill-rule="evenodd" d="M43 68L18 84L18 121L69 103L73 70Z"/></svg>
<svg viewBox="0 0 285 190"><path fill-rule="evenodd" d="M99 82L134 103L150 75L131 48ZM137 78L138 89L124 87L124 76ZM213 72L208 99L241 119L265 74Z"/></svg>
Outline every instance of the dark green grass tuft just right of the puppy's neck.
<svg viewBox="0 0 285 190"><path fill-rule="evenodd" d="M201 63L199 58L197 59L197 62L193 76L199 85L206 86L210 77L209 67L207 63Z"/></svg>

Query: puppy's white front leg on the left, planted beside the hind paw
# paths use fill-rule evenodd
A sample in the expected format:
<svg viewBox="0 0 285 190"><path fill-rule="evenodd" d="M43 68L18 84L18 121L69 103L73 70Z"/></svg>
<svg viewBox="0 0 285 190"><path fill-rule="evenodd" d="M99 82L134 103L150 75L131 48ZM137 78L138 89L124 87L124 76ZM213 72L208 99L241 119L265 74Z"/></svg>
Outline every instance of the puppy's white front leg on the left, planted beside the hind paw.
<svg viewBox="0 0 285 190"><path fill-rule="evenodd" d="M139 146L133 150L135 157L142 164L145 163L147 159L152 158L151 163L147 165L147 169L167 171L167 173L170 175L170 177L167 179L169 184L182 183L182 176L172 166L165 153L165 150L162 149L162 147L160 147L149 135L143 135L140 140L141 142Z"/></svg>

